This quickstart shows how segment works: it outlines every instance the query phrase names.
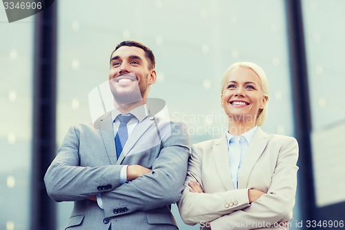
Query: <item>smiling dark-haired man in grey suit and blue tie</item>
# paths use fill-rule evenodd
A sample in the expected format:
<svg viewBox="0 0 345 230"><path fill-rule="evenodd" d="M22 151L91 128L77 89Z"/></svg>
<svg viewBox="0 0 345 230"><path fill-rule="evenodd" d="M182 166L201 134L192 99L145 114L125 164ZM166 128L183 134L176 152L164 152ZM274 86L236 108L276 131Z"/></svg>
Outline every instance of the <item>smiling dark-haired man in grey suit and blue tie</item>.
<svg viewBox="0 0 345 230"><path fill-rule="evenodd" d="M149 48L123 41L112 52L115 109L72 126L44 178L53 200L75 202L66 229L177 229L170 204L184 189L188 135L148 108L155 81Z"/></svg>

